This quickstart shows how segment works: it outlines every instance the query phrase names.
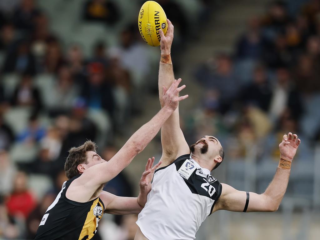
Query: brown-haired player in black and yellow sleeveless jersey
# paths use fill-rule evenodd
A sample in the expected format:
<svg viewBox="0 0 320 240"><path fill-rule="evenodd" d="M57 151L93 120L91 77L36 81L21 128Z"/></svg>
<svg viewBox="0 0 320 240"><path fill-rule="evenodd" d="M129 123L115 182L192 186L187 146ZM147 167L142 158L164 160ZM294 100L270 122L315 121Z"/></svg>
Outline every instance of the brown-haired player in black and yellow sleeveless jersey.
<svg viewBox="0 0 320 240"><path fill-rule="evenodd" d="M65 163L69 180L63 183L60 193L45 212L35 239L91 239L104 212L136 214L141 211L151 190L153 173L159 166L152 167L154 158L148 160L142 174L138 197L119 197L102 191L102 188L147 146L177 108L178 102L188 97L177 96L184 88L178 88L179 83L173 83L164 92L164 107L135 132L108 162L97 154L96 145L92 141L70 149Z"/></svg>

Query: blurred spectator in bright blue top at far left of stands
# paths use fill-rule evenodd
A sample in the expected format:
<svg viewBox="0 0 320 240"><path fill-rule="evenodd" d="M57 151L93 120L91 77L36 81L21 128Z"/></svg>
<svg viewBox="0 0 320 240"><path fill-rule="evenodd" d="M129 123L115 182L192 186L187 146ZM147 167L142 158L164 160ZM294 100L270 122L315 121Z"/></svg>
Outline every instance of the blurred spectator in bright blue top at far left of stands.
<svg viewBox="0 0 320 240"><path fill-rule="evenodd" d="M28 127L24 129L17 137L19 142L33 144L40 142L46 133L46 129L39 123L38 115L31 114Z"/></svg>

